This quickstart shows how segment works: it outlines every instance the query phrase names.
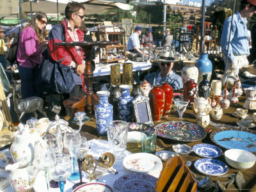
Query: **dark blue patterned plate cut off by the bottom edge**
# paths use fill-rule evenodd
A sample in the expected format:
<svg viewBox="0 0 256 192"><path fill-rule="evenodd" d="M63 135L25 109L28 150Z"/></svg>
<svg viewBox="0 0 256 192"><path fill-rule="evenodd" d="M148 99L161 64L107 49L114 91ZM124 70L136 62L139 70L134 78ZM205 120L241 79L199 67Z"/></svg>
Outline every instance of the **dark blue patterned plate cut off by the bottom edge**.
<svg viewBox="0 0 256 192"><path fill-rule="evenodd" d="M154 191L157 178L143 173L131 173L115 180L113 190L115 192L148 192Z"/></svg>

